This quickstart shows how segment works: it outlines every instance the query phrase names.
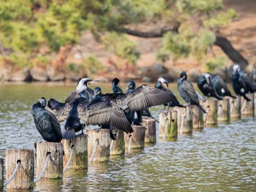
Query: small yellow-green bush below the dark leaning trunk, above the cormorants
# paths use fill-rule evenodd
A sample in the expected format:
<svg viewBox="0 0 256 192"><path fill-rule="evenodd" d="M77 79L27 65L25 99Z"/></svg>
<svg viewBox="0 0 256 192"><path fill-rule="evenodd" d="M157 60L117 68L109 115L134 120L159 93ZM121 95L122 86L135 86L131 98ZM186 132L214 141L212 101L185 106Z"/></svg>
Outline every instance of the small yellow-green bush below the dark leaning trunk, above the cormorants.
<svg viewBox="0 0 256 192"><path fill-rule="evenodd" d="M208 58L204 63L203 67L206 72L214 72L215 69L218 69L221 66L225 66L227 57L225 55L219 55L215 58Z"/></svg>

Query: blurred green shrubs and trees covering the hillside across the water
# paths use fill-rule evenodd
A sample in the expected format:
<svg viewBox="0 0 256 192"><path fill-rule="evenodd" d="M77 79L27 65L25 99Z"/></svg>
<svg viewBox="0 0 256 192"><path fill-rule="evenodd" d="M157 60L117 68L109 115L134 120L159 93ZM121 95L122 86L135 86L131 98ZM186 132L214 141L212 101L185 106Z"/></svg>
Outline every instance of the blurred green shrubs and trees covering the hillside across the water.
<svg viewBox="0 0 256 192"><path fill-rule="evenodd" d="M161 37L156 53L161 61L193 55L211 68L225 61L223 55L206 59L216 31L236 16L223 8L222 0L0 0L1 58L20 67L50 64L54 53L78 44L81 32L89 30L130 64L140 53L127 34ZM152 28L140 30L140 25Z"/></svg>

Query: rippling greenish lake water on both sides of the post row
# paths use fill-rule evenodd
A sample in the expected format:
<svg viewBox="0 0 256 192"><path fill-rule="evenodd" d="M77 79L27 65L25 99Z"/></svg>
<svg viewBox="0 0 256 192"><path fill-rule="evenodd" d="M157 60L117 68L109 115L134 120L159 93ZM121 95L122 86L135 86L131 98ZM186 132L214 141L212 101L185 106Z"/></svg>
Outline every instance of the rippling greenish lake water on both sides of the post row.
<svg viewBox="0 0 256 192"><path fill-rule="evenodd" d="M41 96L64 101L74 87L1 85L0 155L7 148L34 149L42 137L34 126L31 105ZM154 117L160 109L151 109ZM178 136L176 142L160 140L158 134L154 146L111 158L107 164L90 164L86 171L67 171L63 180L39 181L34 191L256 191L253 118L206 127Z"/></svg>

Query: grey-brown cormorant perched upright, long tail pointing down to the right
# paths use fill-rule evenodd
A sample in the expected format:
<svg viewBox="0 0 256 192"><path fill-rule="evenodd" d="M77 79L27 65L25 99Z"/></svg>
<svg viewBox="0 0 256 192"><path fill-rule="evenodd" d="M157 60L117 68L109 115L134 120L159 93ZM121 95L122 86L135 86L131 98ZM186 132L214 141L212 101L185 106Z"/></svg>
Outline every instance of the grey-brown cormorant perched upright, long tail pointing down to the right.
<svg viewBox="0 0 256 192"><path fill-rule="evenodd" d="M177 85L178 92L189 105L196 105L200 108L200 110L206 113L206 110L204 110L203 107L199 104L195 88L193 87L191 82L187 81L186 72L181 72L180 77L178 78Z"/></svg>

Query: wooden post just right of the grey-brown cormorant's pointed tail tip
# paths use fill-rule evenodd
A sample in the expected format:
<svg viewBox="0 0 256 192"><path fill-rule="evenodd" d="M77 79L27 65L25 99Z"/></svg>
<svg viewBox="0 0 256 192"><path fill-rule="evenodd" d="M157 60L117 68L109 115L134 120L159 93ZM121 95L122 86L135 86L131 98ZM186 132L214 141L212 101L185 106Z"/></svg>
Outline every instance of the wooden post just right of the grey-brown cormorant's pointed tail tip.
<svg viewBox="0 0 256 192"><path fill-rule="evenodd" d="M214 98L208 98L205 102L203 102L203 108L208 113L204 117L204 124L216 126L218 124L218 100Z"/></svg>

